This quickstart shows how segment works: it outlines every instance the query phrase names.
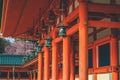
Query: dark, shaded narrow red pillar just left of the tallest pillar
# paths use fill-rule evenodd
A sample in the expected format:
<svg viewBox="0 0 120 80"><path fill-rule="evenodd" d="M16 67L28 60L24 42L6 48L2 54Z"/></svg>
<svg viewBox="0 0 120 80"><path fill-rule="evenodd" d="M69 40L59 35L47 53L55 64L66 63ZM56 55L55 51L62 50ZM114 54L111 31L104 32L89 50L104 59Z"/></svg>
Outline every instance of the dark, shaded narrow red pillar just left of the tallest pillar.
<svg viewBox="0 0 120 80"><path fill-rule="evenodd" d="M70 47L70 80L75 80L75 54L73 51L73 42Z"/></svg>

